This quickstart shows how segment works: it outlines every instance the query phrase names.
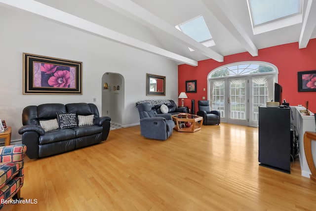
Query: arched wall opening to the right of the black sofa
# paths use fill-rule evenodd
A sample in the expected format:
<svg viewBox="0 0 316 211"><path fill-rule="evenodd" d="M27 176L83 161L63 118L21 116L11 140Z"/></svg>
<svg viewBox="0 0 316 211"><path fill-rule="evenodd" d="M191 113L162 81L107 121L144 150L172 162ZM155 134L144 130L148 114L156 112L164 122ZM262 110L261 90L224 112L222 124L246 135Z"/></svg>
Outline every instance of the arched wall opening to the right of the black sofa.
<svg viewBox="0 0 316 211"><path fill-rule="evenodd" d="M102 76L102 116L111 117L111 123L123 125L124 78L118 73L105 73Z"/></svg>

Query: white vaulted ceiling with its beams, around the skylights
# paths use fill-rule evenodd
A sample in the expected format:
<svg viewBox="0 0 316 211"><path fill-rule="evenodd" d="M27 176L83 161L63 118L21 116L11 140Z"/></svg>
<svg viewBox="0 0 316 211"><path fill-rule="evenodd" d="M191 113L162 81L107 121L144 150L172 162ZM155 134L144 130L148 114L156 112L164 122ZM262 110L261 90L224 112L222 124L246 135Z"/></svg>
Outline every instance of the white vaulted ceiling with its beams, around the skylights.
<svg viewBox="0 0 316 211"><path fill-rule="evenodd" d="M298 19L282 20L292 23L289 26L270 23L270 30L258 34L252 27L247 0L0 0L0 6L35 13L193 66L204 59L222 62L224 56L240 52L257 56L258 49L291 42L299 42L298 47L305 48L310 39L316 38L315 0L303 1ZM206 47L175 28L199 15L212 35L213 46ZM150 31L158 42L145 35L135 36L144 30Z"/></svg>

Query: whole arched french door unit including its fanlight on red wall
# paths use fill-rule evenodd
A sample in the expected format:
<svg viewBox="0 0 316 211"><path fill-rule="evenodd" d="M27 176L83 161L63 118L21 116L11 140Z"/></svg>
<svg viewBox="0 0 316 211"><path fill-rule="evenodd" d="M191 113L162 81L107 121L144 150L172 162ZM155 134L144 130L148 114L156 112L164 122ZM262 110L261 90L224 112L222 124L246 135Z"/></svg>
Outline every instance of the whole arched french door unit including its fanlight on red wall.
<svg viewBox="0 0 316 211"><path fill-rule="evenodd" d="M212 109L219 110L221 121L258 126L259 106L274 99L277 82L275 65L246 61L232 63L208 74L208 97Z"/></svg>

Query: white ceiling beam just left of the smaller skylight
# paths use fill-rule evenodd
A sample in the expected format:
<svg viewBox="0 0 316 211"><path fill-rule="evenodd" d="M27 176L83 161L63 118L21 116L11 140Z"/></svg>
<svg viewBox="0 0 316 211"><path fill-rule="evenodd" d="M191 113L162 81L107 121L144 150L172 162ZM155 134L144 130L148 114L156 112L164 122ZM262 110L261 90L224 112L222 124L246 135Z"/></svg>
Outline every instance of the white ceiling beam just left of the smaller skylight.
<svg viewBox="0 0 316 211"><path fill-rule="evenodd" d="M184 43L187 47L191 47L195 49L197 52L209 58L212 58L218 62L224 61L223 55L193 40L186 34L177 30L175 26L172 26L171 24L167 23L166 21L162 20L158 16L154 15L153 13L149 12L148 10L144 9L143 7L139 6L138 4L134 3L131 0L95 0L95 1L119 12L122 15L125 15L133 20L136 20L139 23L144 24L145 26L155 27L159 30L162 30L165 33L168 33L169 35L173 36L180 42Z"/></svg>

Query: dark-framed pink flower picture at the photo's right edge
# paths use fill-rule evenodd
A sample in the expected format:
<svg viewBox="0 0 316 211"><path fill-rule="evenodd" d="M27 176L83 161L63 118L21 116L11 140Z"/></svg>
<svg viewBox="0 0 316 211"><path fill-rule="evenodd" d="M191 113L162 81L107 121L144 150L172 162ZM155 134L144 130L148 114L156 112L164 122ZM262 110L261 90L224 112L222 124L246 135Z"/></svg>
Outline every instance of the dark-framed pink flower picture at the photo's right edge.
<svg viewBox="0 0 316 211"><path fill-rule="evenodd" d="M316 91L316 70L297 73L298 91Z"/></svg>

